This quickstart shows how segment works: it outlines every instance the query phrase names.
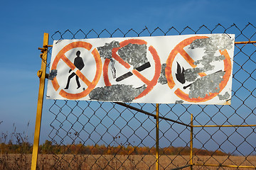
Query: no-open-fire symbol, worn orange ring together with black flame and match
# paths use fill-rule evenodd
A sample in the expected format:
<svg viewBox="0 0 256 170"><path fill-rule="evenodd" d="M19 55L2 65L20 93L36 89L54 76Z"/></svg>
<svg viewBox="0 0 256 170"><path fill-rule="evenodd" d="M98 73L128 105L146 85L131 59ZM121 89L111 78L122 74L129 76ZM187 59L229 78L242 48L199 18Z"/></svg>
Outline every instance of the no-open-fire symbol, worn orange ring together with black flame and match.
<svg viewBox="0 0 256 170"><path fill-rule="evenodd" d="M176 45L176 47L174 47L174 49L171 51L168 59L166 60L166 69L165 69L166 79L168 81L168 86L170 89L173 89L174 86L176 86L176 84L174 82L175 78L181 84L184 84L184 80L181 78L182 77L181 74L183 74L183 72L185 72L185 70L183 68L181 69L181 66L178 64L178 62L177 62L177 73L174 73L172 70L172 67L174 67L174 64L176 64L176 62L174 62L174 60L176 59L178 54L181 55L181 57L183 57L183 59L186 60L186 62L188 62L188 64L193 69L196 69L197 65L195 64L195 61L193 60L193 58L190 55L188 55L188 53L186 52L186 50L184 50L184 48L188 45L191 45L191 43L194 40L203 40L203 39L207 39L207 38L208 38L208 36L193 36L191 38L187 38L187 39L179 42L178 45ZM220 57L224 56L225 58L223 59L224 70L219 70L219 71L213 73L213 75L223 73L223 76L220 78L221 82L220 82L220 84L218 84L218 87L215 88L216 89L215 92L209 92L203 97L202 96L190 97L186 92L184 92L185 89L187 89L189 86L191 86L191 84L188 84L187 86L183 86L182 89L181 88L176 89L174 91L174 94L176 94L176 96L178 96L179 98L181 98L184 101L193 102L193 103L208 101L208 100L214 98L215 96L217 96L218 94L220 94L220 92L223 91L225 86L228 84L228 81L230 79L230 74L232 71L232 65L231 65L230 55L228 54L228 51L226 49L218 50L218 53L219 53ZM176 77L174 77L173 75L176 75ZM207 74L204 72L198 71L198 76L202 77L202 79L203 79L204 77L207 76Z"/></svg>

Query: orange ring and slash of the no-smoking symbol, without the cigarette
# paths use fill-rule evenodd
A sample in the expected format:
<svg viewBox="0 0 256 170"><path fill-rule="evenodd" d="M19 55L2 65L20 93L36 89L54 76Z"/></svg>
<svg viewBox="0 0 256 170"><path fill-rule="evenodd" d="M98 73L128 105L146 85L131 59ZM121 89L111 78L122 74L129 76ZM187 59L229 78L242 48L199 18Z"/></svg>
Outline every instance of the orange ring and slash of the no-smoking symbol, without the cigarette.
<svg viewBox="0 0 256 170"><path fill-rule="evenodd" d="M122 48L126 45L129 45L130 43L131 44L137 44L137 45L146 45L147 44L147 42L144 41L144 40L129 39L129 40L124 40L122 42L119 42L120 47L115 47L115 48L112 49L112 57L127 69L129 69L131 66L127 62L122 60L122 58L119 57L119 55L117 55L117 50L119 50L120 48ZM149 52L151 53L151 55L153 57L153 60L155 62L154 77L151 80L149 80L149 79L146 79L146 77L144 77L137 69L132 70L132 74L134 74L142 82L144 82L144 84L147 85L146 89L144 91L142 91L142 93L139 94L134 99L142 98L143 96L146 96L146 94L149 94L149 91L151 91L154 88L154 86L156 86L157 81L158 81L158 79L160 77L160 74L161 74L161 62L160 62L159 55L156 52L156 49L153 46L149 46ZM103 65L103 78L104 78L104 82L105 82L106 86L112 86L112 84L110 83L110 79L108 77L109 64L110 64L110 59L106 59L105 62L104 62L104 65Z"/></svg>

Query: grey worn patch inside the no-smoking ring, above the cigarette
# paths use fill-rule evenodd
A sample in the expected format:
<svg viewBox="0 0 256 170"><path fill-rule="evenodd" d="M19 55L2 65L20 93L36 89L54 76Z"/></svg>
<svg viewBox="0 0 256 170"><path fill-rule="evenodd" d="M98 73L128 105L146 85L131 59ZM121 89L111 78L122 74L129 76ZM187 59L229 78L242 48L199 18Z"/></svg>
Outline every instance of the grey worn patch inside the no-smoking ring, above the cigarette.
<svg viewBox="0 0 256 170"><path fill-rule="evenodd" d="M146 58L146 45L129 43L128 45L120 48L117 52L122 60L129 63L134 68L140 67L148 62Z"/></svg>

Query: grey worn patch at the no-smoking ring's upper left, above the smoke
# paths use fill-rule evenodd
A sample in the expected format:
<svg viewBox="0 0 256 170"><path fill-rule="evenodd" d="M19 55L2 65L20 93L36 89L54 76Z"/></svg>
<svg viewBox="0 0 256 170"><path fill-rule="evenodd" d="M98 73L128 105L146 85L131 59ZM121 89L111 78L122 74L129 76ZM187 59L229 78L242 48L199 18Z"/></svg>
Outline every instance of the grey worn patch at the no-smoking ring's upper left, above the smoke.
<svg viewBox="0 0 256 170"><path fill-rule="evenodd" d="M106 59L111 59L112 58L112 49L114 47L120 47L118 41L112 41L110 43L105 43L104 46L102 47L97 47L98 52L100 53L100 57Z"/></svg>

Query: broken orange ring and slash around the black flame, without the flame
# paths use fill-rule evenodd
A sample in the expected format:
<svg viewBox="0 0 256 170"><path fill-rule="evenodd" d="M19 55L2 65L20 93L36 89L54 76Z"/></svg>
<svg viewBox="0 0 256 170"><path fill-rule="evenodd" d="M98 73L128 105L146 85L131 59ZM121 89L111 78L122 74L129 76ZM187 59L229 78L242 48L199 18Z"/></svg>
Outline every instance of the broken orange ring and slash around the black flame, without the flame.
<svg viewBox="0 0 256 170"><path fill-rule="evenodd" d="M208 37L207 36L194 36L191 38L187 38L187 39L179 42L178 45L176 45L176 47L174 47L174 50L171 51L171 53L166 61L166 69L165 69L166 79L167 79L168 86L170 89L173 89L175 86L174 79L172 77L172 72L171 72L171 67L173 65L174 58L179 53L186 60L186 62L188 62L188 64L191 65L191 67L195 68L196 65L193 64L193 62L194 62L193 59L188 55L188 53L183 48L186 47L187 45L190 45L193 42L193 40L203 39L203 38L208 38ZM194 103L208 101L208 100L214 98L215 96L217 96L218 94L220 94L220 92L228 84L228 80L230 78L231 60L230 60L230 56L228 55L227 50L223 50L223 51L219 50L219 52L220 52L220 55L225 56L225 60L223 60L225 74L223 76L223 81L221 81L219 84L220 91L218 93L210 93L209 95L206 94L206 96L204 98L201 98L201 97L189 98L188 94L184 93L183 91L181 91L181 89L178 88L178 89L176 89L176 91L174 91L174 94L176 94L176 96L183 99L184 101L194 102ZM199 75L201 77L206 76L205 73L199 73Z"/></svg>

